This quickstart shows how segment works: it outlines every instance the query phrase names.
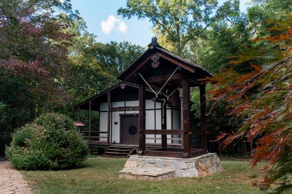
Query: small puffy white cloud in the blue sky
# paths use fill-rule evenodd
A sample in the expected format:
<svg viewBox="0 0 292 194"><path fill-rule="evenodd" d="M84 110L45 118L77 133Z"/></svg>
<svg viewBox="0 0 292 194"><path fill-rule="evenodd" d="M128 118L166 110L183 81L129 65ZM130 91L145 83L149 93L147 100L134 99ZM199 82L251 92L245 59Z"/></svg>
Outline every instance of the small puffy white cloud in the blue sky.
<svg viewBox="0 0 292 194"><path fill-rule="evenodd" d="M118 24L117 27L116 24ZM126 33L128 26L125 24L125 22L117 19L115 16L110 15L106 21L104 20L101 22L101 30L105 34L110 34L113 29L117 32Z"/></svg>

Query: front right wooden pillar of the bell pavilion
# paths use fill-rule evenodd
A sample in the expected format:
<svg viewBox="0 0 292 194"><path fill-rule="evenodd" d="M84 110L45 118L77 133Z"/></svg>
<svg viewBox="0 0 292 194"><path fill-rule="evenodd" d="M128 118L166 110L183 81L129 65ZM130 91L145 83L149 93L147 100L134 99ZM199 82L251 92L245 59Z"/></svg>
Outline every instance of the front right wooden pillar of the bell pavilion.
<svg viewBox="0 0 292 194"><path fill-rule="evenodd" d="M190 84L189 78L183 78L183 158L189 158L190 146Z"/></svg>

